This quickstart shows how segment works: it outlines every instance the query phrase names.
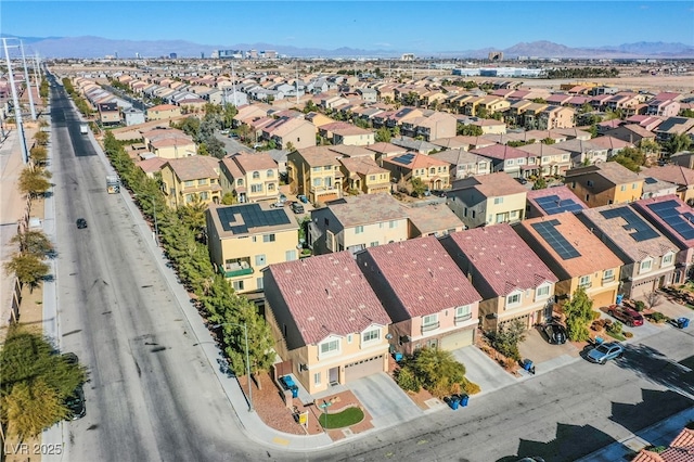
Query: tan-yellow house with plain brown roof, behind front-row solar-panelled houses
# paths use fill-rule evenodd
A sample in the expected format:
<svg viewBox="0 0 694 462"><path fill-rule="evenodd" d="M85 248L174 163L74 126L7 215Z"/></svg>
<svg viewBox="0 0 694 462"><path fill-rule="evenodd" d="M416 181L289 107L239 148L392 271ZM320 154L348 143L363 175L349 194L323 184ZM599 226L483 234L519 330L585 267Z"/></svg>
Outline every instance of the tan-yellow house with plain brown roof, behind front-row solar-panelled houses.
<svg viewBox="0 0 694 462"><path fill-rule="evenodd" d="M643 194L643 177L616 162L573 168L564 183L589 207L638 201Z"/></svg>

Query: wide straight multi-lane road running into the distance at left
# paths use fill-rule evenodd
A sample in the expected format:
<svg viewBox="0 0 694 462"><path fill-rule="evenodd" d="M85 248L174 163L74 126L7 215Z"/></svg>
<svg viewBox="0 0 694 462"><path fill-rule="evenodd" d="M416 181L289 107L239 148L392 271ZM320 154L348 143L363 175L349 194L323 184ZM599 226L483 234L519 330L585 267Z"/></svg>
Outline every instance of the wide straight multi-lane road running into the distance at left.
<svg viewBox="0 0 694 462"><path fill-rule="evenodd" d="M62 90L62 88L61 88ZM123 198L63 94L53 92L61 344L89 368L66 461L257 460ZM87 219L78 230L75 220Z"/></svg>

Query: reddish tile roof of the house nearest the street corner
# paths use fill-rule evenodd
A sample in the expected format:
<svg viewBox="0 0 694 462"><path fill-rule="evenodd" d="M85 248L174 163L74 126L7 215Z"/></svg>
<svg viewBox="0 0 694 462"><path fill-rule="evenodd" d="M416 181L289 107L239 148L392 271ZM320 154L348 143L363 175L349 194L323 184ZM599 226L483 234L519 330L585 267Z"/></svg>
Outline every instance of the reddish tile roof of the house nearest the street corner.
<svg viewBox="0 0 694 462"><path fill-rule="evenodd" d="M307 345L390 323L349 252L270 265L267 271Z"/></svg>

